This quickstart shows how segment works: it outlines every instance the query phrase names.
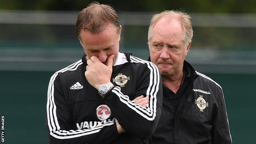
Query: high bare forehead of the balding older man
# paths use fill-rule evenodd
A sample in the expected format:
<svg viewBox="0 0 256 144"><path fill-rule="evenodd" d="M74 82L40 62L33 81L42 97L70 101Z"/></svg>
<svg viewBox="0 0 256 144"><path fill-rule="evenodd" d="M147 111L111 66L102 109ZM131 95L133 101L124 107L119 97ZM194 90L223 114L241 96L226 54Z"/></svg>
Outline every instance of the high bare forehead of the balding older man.
<svg viewBox="0 0 256 144"><path fill-rule="evenodd" d="M155 23L155 26L152 29L151 40L182 42L183 28L180 20L176 17L161 18L157 23Z"/></svg>

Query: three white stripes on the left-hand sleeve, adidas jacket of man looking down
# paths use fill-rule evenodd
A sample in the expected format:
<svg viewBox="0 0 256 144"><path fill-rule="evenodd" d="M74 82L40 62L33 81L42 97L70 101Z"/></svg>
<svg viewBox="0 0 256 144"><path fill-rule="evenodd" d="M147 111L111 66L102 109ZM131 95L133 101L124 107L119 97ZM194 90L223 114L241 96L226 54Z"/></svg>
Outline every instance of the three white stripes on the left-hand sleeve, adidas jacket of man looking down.
<svg viewBox="0 0 256 144"><path fill-rule="evenodd" d="M101 128L103 128L104 126L110 126L114 124L113 121L109 121L104 124L101 123L100 125L97 125L95 128L90 128L90 129L69 130L69 131L60 130L60 126L59 126L59 122L57 120L57 114L56 114L56 105L54 101L54 81L58 73L64 73L66 71L75 71L76 69L78 69L78 66L80 66L81 64L82 64L82 60L80 59L78 62L75 62L74 64L71 64L64 69L57 71L50 78L50 82L48 86L48 94L47 94L47 104L46 104L47 121L48 121L49 130L50 130L50 135L58 139L69 139L69 138L89 135L92 133L98 133L101 130Z"/></svg>

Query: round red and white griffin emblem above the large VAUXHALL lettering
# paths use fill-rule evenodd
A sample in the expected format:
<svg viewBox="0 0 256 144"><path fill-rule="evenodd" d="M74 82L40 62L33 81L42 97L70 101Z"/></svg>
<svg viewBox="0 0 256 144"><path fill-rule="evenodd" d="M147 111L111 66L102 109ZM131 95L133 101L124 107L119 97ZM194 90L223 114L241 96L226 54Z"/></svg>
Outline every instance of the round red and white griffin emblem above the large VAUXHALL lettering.
<svg viewBox="0 0 256 144"><path fill-rule="evenodd" d="M100 105L96 108L96 115L99 120L104 121L111 114L110 108L107 105Z"/></svg>

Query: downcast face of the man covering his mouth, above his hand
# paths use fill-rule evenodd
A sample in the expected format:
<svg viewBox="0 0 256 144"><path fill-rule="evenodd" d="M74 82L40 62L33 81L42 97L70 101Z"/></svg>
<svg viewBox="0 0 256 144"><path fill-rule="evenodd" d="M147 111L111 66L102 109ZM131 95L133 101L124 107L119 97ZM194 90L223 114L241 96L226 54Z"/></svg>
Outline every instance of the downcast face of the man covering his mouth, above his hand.
<svg viewBox="0 0 256 144"><path fill-rule="evenodd" d="M88 30L81 30L80 38L80 43L88 59L96 56L103 64L107 64L108 57L114 55L113 64L116 62L119 52L120 34L117 34L113 25L105 26L105 30L99 34L92 34Z"/></svg>

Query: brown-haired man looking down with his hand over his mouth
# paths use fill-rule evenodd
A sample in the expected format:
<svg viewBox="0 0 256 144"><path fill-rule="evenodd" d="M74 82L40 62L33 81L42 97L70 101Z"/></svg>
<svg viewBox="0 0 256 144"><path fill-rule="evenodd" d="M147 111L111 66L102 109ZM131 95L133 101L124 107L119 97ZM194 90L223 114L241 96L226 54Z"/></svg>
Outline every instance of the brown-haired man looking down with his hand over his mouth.
<svg viewBox="0 0 256 144"><path fill-rule="evenodd" d="M76 35L85 54L53 74L46 128L51 144L146 144L161 113L162 82L151 62L119 52L114 9L92 2Z"/></svg>

